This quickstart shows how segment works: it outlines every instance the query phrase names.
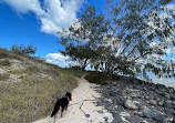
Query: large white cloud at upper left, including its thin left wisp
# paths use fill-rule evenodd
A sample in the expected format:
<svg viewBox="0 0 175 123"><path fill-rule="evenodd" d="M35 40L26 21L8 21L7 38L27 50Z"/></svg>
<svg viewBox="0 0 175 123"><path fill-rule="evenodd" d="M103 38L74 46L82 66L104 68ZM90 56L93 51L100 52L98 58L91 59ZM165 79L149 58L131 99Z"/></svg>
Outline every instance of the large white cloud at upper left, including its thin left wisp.
<svg viewBox="0 0 175 123"><path fill-rule="evenodd" d="M69 28L85 0L2 0L19 13L35 13L41 21L41 31L56 34L61 29Z"/></svg>

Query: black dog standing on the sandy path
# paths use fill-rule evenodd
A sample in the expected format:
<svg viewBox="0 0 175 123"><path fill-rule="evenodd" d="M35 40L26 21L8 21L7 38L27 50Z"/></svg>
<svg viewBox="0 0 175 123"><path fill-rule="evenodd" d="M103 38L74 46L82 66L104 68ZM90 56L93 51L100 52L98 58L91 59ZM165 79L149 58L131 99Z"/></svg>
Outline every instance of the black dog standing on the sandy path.
<svg viewBox="0 0 175 123"><path fill-rule="evenodd" d="M68 109L69 101L72 101L72 94L66 92L65 96L63 96L62 99L59 99L55 102L53 112L51 114L51 117L54 115L54 121L55 121L55 116L56 116L56 113L59 112L60 106L62 107L61 109L61 117L62 117L62 113L63 113L64 109L65 110Z"/></svg>

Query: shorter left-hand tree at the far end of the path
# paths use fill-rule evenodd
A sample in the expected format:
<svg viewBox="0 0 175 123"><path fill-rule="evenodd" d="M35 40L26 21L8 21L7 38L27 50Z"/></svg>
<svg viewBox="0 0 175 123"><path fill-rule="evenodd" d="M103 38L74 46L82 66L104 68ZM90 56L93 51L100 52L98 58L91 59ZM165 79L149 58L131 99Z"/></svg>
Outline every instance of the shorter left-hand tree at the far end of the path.
<svg viewBox="0 0 175 123"><path fill-rule="evenodd" d="M101 43L107 32L107 24L104 14L96 14L95 7L87 7L69 30L58 32L61 37L59 43L65 48L60 52L79 62L82 70L85 70L87 64L100 59L106 50Z"/></svg>

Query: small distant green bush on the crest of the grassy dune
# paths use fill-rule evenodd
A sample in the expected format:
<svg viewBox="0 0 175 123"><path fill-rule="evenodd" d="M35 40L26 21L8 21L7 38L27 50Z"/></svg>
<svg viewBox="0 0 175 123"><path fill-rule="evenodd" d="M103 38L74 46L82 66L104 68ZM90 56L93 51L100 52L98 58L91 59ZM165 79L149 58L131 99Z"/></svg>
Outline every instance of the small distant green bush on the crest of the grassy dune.
<svg viewBox="0 0 175 123"><path fill-rule="evenodd" d="M11 47L11 50L24 54L35 54L37 47L33 47L32 44L29 44L28 47L23 47L22 44L21 45L13 44Z"/></svg>

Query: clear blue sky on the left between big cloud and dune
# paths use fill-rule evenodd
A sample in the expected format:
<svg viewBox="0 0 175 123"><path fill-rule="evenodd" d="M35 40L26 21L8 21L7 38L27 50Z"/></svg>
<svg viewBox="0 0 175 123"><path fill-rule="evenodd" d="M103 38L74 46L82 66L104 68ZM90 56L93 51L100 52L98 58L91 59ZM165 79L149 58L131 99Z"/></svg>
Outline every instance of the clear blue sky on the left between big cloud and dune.
<svg viewBox="0 0 175 123"><path fill-rule="evenodd" d="M34 13L18 13L9 4L0 3L0 47L9 49L12 44L34 44L40 57L58 52L58 38L40 31L40 21Z"/></svg>

